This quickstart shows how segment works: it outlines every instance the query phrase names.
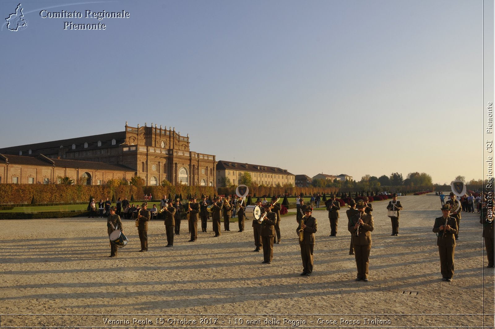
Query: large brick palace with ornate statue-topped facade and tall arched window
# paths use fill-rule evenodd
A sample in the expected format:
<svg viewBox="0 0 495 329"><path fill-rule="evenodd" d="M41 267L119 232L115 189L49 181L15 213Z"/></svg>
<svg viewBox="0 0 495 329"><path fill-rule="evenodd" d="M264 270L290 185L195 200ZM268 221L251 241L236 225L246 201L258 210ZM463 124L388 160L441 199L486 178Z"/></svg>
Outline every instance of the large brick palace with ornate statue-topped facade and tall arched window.
<svg viewBox="0 0 495 329"><path fill-rule="evenodd" d="M93 136L69 138L58 141L28 144L21 146L6 147L0 149L0 175L4 179L1 183L12 183L15 179L7 177L6 166L14 160L15 157L9 155L22 156L15 158L17 166L45 165L49 160L53 160L52 166L61 167L84 167L88 170L78 172L84 174L86 184L105 183L107 179L99 179L95 165L89 165L88 162L119 165L105 166L105 172L108 177L110 173L112 178L120 177L129 179L129 172L133 175L142 177L147 185L159 185L163 180L171 184L186 184L190 186L215 186L216 180L216 161L215 156L193 152L189 148L189 134L181 136L175 128L169 129L153 126L131 127L125 124L124 131L106 133ZM29 161L21 158L37 158L38 162ZM65 160L63 164L56 160ZM76 161L83 164L70 164L70 161ZM8 164L11 165L11 164ZM101 169L100 169L101 170ZM41 171L40 171L41 172ZM58 171L57 171L58 172ZM72 173L69 170L71 175ZM56 183L53 177L54 173L42 174L37 181ZM59 176L57 174L57 176ZM0 176L1 177L1 176ZM12 176L14 177L14 176ZM12 178L11 177L11 178ZM67 176L76 181L81 176ZM102 176L104 177L104 176ZM48 179L46 179L48 178ZM0 178L1 179L1 178ZM27 179L27 178L26 178ZM108 178L110 179L110 178ZM29 183L21 179L18 183Z"/></svg>

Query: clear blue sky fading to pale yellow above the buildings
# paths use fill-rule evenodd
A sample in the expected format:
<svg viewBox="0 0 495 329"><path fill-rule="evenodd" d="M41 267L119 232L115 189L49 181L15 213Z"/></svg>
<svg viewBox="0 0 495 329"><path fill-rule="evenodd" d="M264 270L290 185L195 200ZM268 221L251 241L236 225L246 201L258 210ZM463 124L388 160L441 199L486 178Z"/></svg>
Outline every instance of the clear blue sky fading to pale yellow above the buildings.
<svg viewBox="0 0 495 329"><path fill-rule="evenodd" d="M0 148L146 122L311 177L483 177L482 1L29 1L9 31L18 3L0 7ZM62 10L82 17L42 17Z"/></svg>

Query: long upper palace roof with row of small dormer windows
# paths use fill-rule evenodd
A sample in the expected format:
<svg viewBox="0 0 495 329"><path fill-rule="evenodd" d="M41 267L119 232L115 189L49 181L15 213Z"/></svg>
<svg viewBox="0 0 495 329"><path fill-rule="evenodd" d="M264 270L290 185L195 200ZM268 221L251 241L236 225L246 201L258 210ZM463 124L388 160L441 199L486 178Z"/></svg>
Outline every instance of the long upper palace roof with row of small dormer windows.
<svg viewBox="0 0 495 329"><path fill-rule="evenodd" d="M61 139L58 141L42 142L35 144L26 144L19 146L11 146L0 149L0 154L12 154L18 155L19 151L22 154L28 154L31 150L30 156L37 156L40 154L57 154L60 147L67 148L68 151L81 151L81 150L94 150L104 149L110 147L118 147L125 142L125 131L111 132L106 134L99 134L93 136L84 136L76 138ZM115 139L115 144L112 145L112 139ZM98 142L101 142L101 146L98 146ZM88 143L88 147L84 147L84 143ZM75 144L76 148L72 150L72 145Z"/></svg>

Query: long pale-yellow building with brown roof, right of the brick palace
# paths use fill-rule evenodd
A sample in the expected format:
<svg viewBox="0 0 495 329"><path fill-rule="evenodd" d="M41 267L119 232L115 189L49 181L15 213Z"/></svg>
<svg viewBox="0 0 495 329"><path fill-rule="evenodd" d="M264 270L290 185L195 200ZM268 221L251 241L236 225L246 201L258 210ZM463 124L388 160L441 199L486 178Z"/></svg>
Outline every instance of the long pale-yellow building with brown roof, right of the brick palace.
<svg viewBox="0 0 495 329"><path fill-rule="evenodd" d="M239 185L240 177L248 172L253 182L258 185L277 186L277 184L292 184L295 186L296 176L278 167L259 164L242 164L232 161L219 161L216 165L216 186L221 186L222 178L230 179L231 184Z"/></svg>

